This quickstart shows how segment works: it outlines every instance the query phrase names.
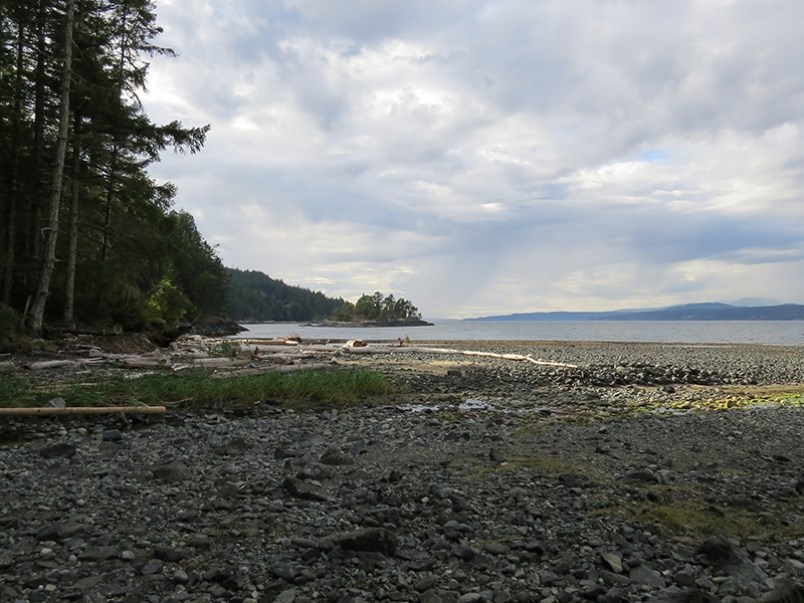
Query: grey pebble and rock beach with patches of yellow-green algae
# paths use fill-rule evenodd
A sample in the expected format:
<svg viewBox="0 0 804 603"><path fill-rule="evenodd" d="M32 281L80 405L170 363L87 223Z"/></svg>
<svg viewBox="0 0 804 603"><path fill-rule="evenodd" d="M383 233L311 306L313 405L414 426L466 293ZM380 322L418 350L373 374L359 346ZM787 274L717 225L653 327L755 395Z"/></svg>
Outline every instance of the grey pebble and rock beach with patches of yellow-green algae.
<svg viewBox="0 0 804 603"><path fill-rule="evenodd" d="M344 354L399 393L2 418L0 601L804 601L804 348L442 344L569 366Z"/></svg>

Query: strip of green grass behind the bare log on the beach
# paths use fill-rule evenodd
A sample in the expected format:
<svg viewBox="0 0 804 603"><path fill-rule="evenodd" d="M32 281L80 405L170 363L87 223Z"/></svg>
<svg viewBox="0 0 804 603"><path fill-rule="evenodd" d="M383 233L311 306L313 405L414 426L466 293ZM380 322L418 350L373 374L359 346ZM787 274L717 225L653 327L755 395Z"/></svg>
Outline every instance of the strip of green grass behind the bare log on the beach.
<svg viewBox="0 0 804 603"><path fill-rule="evenodd" d="M68 406L243 405L256 402L348 405L392 393L388 379L371 371L310 369L292 373L215 377L203 370L114 377L95 382L34 386L0 374L0 407L41 406L61 397Z"/></svg>

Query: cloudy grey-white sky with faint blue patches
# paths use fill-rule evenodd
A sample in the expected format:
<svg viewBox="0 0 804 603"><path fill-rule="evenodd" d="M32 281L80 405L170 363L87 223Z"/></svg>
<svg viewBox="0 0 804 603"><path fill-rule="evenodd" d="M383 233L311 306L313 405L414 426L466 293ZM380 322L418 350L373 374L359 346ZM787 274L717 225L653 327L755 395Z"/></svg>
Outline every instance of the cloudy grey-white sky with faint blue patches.
<svg viewBox="0 0 804 603"><path fill-rule="evenodd" d="M426 317L804 302L801 0L158 0L227 266Z"/></svg>

